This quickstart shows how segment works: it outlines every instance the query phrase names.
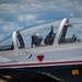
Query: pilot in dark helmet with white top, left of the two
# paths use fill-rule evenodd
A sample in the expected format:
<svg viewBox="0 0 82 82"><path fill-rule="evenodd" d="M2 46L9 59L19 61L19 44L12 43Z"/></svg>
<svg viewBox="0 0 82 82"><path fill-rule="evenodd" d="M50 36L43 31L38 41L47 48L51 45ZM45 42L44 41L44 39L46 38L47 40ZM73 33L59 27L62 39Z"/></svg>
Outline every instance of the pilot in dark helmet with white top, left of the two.
<svg viewBox="0 0 82 82"><path fill-rule="evenodd" d="M36 33L35 35L32 35L32 47L33 45L40 46L42 40L43 36L40 34Z"/></svg>

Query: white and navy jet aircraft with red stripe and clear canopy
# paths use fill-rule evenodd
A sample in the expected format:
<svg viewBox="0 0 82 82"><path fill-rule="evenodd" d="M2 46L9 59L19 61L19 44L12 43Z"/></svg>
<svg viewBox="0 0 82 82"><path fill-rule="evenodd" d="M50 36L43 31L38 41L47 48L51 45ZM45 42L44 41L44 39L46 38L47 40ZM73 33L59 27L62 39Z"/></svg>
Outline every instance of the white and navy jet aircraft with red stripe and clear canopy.
<svg viewBox="0 0 82 82"><path fill-rule="evenodd" d="M37 71L66 82L66 77L81 75L82 43L71 26L63 19L13 32L0 42L0 73Z"/></svg>

